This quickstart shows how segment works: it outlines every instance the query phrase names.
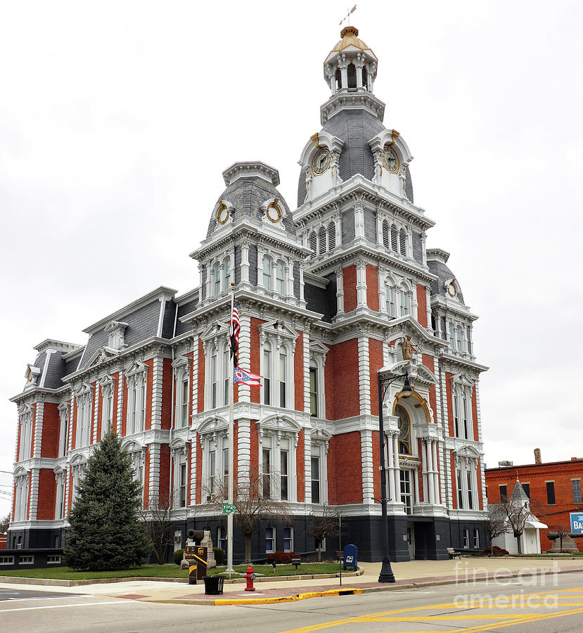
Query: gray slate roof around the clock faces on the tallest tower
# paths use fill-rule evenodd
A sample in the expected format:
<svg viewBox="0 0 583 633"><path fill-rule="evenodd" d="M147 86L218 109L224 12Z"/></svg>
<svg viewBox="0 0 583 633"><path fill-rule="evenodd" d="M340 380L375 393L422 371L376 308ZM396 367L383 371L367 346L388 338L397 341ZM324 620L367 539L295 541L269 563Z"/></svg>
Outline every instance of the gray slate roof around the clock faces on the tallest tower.
<svg viewBox="0 0 583 633"><path fill-rule="evenodd" d="M378 117L366 110L340 110L338 114L326 121L322 132L328 132L344 141L338 160L338 171L342 180L348 180L354 174L361 174L369 180L373 179L374 159L369 141L384 131L385 126ZM406 168L405 191L409 200L413 202L413 184L409 167ZM300 179L297 182L298 207L304 203L305 198L305 172L300 170Z"/></svg>

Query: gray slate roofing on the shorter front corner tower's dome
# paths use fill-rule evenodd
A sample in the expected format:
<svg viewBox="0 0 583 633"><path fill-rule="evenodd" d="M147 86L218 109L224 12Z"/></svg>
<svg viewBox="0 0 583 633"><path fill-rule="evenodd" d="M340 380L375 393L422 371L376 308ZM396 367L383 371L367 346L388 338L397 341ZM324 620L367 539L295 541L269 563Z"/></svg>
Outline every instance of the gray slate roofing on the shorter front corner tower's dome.
<svg viewBox="0 0 583 633"><path fill-rule="evenodd" d="M283 226L288 233L295 235L295 226L288 203L286 203L276 186L259 176L236 179L227 186L217 200L227 200L233 205L233 219L243 215L261 221L263 217L261 205L265 200L270 200L271 198L277 198L283 206L285 210L285 215L283 215L282 219ZM208 225L207 238L210 238L216 228L217 218L213 214Z"/></svg>

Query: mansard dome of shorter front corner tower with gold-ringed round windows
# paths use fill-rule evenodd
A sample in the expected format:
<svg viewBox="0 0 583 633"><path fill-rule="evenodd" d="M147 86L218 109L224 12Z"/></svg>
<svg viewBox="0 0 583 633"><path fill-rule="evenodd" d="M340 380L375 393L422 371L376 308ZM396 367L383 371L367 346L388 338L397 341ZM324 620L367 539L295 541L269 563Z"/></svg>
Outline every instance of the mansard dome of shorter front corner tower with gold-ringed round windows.
<svg viewBox="0 0 583 633"><path fill-rule="evenodd" d="M233 222L255 219L295 236L288 203L277 190L279 173L264 162L235 162L224 170L226 189L214 205L207 238Z"/></svg>

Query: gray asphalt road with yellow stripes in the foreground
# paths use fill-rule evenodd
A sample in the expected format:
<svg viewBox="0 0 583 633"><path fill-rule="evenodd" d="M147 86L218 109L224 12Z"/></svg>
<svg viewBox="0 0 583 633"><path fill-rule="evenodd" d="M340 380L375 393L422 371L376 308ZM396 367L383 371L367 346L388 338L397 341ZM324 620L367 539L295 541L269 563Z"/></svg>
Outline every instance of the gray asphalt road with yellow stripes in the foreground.
<svg viewBox="0 0 583 633"><path fill-rule="evenodd" d="M544 587L528 578L258 606L167 605L6 585L0 592L0 629L10 633L583 631L583 575L577 573L547 579Z"/></svg>

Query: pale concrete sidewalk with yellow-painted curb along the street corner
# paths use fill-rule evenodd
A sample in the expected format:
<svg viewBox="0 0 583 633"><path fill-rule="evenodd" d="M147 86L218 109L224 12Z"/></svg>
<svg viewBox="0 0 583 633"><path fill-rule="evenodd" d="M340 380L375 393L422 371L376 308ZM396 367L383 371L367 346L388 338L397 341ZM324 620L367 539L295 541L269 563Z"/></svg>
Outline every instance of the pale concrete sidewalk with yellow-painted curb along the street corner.
<svg viewBox="0 0 583 633"><path fill-rule="evenodd" d="M200 584L177 582L131 580L125 582L108 582L85 584L77 587L51 587L51 591L75 592L77 594L102 595L116 598L138 600L143 602L174 604L261 604L289 602L327 595L361 594L367 592L392 591L407 587L422 587L435 584L472 584L474 580L492 579L498 582L510 577L531 579L536 576L549 575L568 571L583 572L581 558L541 559L541 558L461 558L455 561L409 561L392 563L395 583L379 583L380 563L359 563L363 574L359 576L342 576L342 587L339 579L314 578L306 580L272 580L255 583L255 592L245 592L245 584L232 583L224 585L222 596L206 596L205 587ZM547 584L551 580L547 581ZM583 577L582 577L583 582ZM8 584L9 583L9 584ZM0 577L0 587L30 589L30 584L18 584L7 577Z"/></svg>

